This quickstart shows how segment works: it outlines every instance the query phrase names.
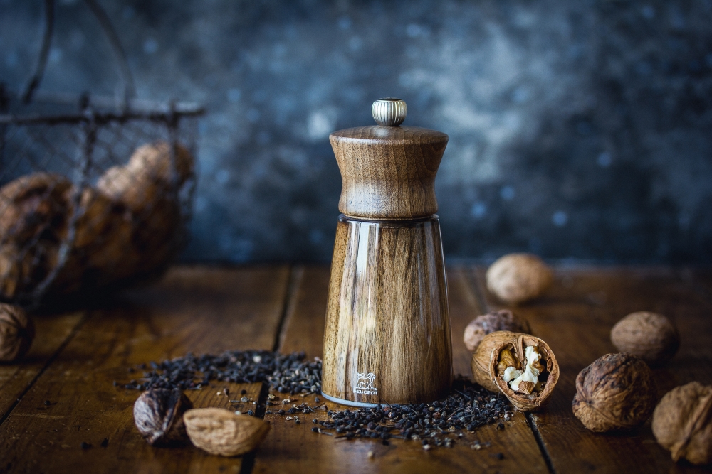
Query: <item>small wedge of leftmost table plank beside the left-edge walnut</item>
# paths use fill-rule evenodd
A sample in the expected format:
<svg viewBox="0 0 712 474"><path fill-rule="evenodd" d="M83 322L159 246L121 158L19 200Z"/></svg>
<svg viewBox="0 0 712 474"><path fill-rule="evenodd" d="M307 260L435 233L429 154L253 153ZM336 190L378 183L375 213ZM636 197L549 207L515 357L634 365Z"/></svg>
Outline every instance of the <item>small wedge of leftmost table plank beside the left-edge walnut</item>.
<svg viewBox="0 0 712 474"><path fill-rule="evenodd" d="M0 364L0 420L82 321L83 312L34 316L35 340L20 362Z"/></svg>

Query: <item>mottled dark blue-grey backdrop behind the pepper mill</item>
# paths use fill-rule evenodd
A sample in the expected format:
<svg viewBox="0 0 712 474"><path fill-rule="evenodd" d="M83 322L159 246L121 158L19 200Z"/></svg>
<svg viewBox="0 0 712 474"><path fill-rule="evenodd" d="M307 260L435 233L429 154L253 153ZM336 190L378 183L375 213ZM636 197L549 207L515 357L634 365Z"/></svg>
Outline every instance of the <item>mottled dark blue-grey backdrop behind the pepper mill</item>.
<svg viewBox="0 0 712 474"><path fill-rule="evenodd" d="M712 262L712 1L100 0L145 99L204 103L184 259L328 261L335 129L395 96L446 132L450 258ZM0 0L19 89L40 0ZM112 95L103 33L58 1L41 89Z"/></svg>

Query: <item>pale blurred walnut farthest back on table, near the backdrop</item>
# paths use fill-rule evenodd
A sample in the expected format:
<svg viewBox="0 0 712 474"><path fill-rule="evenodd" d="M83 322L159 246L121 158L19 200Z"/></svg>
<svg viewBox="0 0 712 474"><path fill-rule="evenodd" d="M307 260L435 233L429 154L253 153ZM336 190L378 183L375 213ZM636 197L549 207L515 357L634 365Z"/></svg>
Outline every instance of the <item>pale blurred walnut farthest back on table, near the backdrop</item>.
<svg viewBox="0 0 712 474"><path fill-rule="evenodd" d="M487 289L502 301L522 303L540 296L553 276L548 266L532 254L507 254L487 269Z"/></svg>

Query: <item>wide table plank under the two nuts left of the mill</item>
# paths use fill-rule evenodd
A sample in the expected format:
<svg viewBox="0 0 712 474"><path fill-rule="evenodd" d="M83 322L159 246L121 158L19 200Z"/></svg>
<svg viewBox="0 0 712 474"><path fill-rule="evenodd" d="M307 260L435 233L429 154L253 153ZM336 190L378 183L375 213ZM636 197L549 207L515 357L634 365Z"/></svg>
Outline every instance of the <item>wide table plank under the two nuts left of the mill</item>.
<svg viewBox="0 0 712 474"><path fill-rule="evenodd" d="M186 352L271 350L288 269L173 269L157 286L95 311L0 425L0 470L8 472L239 472L241 458L197 448L152 448L132 417L139 392L113 387L127 367ZM225 384L188 391L196 406L227 406ZM260 384L229 384L258 399ZM44 402L48 400L49 406ZM108 446L102 441L108 439ZM91 448L82 449L82 442Z"/></svg>

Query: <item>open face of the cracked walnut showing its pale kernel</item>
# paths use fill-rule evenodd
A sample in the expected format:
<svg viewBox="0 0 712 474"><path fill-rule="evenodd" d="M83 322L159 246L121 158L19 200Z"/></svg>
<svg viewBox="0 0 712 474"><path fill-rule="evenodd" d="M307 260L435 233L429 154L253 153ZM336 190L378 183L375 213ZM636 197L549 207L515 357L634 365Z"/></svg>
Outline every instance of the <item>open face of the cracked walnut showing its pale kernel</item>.
<svg viewBox="0 0 712 474"><path fill-rule="evenodd" d="M492 350L489 372L500 392L520 411L539 409L559 380L554 352L528 334L501 340Z"/></svg>

